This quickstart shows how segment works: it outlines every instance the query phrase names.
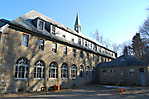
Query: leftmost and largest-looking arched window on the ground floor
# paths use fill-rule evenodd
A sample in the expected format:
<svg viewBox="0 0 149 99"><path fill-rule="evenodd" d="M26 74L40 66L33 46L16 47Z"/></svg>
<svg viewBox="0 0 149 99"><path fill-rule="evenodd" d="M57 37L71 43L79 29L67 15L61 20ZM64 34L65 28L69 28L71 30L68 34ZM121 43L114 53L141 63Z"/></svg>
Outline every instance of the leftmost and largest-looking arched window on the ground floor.
<svg viewBox="0 0 149 99"><path fill-rule="evenodd" d="M26 58L20 58L15 66L15 78L28 78L29 61Z"/></svg>

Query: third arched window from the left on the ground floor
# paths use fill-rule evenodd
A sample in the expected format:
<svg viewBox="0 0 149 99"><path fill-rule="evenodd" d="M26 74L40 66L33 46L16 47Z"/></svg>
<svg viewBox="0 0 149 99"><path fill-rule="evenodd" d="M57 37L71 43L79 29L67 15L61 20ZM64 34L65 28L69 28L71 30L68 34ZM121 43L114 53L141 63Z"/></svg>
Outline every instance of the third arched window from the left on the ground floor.
<svg viewBox="0 0 149 99"><path fill-rule="evenodd" d="M49 67L49 78L58 78L58 65L52 62Z"/></svg>

